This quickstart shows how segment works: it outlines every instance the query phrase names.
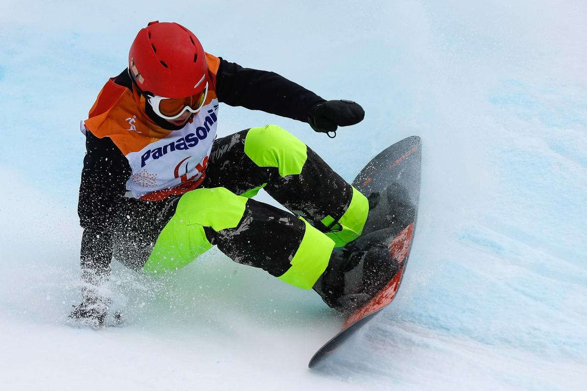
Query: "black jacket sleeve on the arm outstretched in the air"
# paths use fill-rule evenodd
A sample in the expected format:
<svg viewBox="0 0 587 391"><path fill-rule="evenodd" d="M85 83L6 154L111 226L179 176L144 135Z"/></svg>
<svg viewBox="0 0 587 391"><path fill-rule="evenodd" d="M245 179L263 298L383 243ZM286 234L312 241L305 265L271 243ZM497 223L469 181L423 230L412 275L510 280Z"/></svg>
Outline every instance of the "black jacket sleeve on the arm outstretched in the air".
<svg viewBox="0 0 587 391"><path fill-rule="evenodd" d="M243 68L220 59L218 101L308 122L308 111L325 99L274 72Z"/></svg>

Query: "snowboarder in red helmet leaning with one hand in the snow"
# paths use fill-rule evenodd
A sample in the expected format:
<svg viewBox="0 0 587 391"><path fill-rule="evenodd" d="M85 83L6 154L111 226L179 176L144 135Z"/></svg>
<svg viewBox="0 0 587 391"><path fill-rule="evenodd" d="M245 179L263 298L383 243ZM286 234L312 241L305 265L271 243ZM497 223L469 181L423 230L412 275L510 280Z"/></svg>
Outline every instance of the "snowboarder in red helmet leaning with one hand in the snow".
<svg viewBox="0 0 587 391"><path fill-rule="evenodd" d="M382 195L367 199L276 125L217 138L219 103L326 133L365 114L355 102L325 100L279 74L212 56L177 23L149 23L131 45L129 67L107 81L82 122L84 286L70 319L104 325L110 300L99 287L113 257L160 275L216 245L237 263L313 288L340 311L397 271L385 246L345 249L368 229ZM261 188L292 213L251 199Z"/></svg>

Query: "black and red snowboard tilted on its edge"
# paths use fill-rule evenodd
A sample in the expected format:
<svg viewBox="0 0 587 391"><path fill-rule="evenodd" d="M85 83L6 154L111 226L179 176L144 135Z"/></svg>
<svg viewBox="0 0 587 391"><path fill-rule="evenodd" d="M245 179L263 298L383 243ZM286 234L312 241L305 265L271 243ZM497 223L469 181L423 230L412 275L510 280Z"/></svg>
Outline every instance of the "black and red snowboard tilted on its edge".
<svg viewBox="0 0 587 391"><path fill-rule="evenodd" d="M312 368L330 353L335 352L350 335L363 327L377 312L392 302L402 282L416 225L416 214L420 195L421 140L411 136L384 149L362 169L353 181L353 186L369 196L391 186L393 192L392 210L394 218L375 222L377 231L365 232L358 237L356 246L369 247L369 241L381 243L382 234L392 257L400 264L400 269L371 300L352 312L342 329L326 342L308 363ZM395 185L394 185L395 183ZM366 227L367 229L368 227Z"/></svg>

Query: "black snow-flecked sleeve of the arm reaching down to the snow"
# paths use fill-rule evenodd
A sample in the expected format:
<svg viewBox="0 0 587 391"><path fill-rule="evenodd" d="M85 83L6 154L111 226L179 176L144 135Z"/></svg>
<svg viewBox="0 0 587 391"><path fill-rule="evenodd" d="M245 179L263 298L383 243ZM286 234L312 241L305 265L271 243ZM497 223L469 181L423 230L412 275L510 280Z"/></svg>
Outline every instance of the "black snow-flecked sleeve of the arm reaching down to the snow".
<svg viewBox="0 0 587 391"><path fill-rule="evenodd" d="M130 174L129 162L109 137L86 132L77 213L83 227L82 277L87 283L97 284L110 274L112 236Z"/></svg>

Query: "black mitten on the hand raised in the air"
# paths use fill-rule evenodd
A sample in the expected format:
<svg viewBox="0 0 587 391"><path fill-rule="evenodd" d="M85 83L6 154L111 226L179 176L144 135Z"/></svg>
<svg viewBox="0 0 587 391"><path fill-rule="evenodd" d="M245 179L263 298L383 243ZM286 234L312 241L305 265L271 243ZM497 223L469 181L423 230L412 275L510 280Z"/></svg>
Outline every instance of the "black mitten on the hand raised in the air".
<svg viewBox="0 0 587 391"><path fill-rule="evenodd" d="M363 121L363 118L365 110L360 104L350 100L327 100L316 103L308 113L308 123L313 130L323 133L334 132L335 135L339 126L355 125Z"/></svg>

